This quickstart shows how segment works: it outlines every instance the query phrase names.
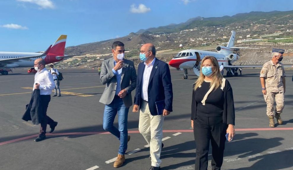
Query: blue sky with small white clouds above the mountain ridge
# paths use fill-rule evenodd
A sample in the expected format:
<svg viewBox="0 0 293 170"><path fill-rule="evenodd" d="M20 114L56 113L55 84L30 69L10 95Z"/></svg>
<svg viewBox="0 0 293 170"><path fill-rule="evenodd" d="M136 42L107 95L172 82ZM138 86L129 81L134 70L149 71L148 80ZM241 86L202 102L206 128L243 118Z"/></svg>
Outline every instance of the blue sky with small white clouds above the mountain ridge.
<svg viewBox="0 0 293 170"><path fill-rule="evenodd" d="M201 17L293 10L288 0L1 0L0 51L44 51L61 34L66 47ZM277 8L279 7L279 8Z"/></svg>

